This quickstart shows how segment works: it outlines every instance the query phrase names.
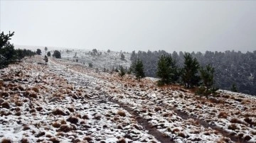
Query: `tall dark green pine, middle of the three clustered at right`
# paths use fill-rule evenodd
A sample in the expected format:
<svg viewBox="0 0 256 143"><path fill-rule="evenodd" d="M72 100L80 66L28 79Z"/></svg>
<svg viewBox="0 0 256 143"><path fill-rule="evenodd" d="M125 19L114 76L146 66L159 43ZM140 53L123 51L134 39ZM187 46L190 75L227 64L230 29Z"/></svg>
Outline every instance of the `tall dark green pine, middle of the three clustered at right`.
<svg viewBox="0 0 256 143"><path fill-rule="evenodd" d="M191 54L185 53L184 55L184 67L182 69L182 81L186 88L198 86L200 76L198 76L199 63L196 58L193 58Z"/></svg>

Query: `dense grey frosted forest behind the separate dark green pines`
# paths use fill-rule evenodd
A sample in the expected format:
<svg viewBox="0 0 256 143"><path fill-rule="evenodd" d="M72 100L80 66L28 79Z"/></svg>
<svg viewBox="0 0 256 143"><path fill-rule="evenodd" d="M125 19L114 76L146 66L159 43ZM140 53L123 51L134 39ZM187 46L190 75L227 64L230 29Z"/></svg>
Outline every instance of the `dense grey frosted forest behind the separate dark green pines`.
<svg viewBox="0 0 256 143"><path fill-rule="evenodd" d="M175 68L182 69L184 67L186 53L183 52L178 53L174 51L172 54L169 54L164 50L154 52L133 51L131 60L134 62L137 59L141 59L144 64L145 75L159 77L157 75L158 62L159 59L163 58L161 57L163 55L169 55L172 60L175 61ZM208 64L213 67L213 80L215 81L213 86L227 90L233 89L252 95L256 94L256 51L246 53L240 51L206 51L206 53L191 52L190 55L198 61L201 67L206 67ZM175 76L172 78L175 79Z"/></svg>

